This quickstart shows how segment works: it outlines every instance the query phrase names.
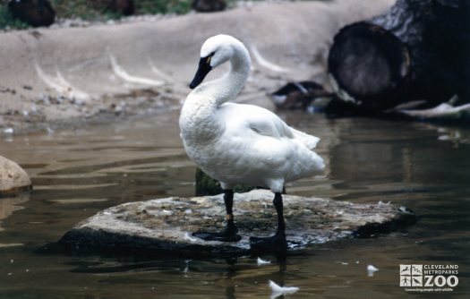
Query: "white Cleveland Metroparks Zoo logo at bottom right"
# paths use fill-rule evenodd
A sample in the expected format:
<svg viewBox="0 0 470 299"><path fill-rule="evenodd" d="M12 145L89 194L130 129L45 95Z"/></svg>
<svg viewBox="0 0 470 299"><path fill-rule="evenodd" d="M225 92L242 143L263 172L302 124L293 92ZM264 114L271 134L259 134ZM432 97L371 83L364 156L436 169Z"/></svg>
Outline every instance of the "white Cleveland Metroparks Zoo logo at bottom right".
<svg viewBox="0 0 470 299"><path fill-rule="evenodd" d="M457 265L400 265L400 286L412 287L454 287L458 285ZM437 275L436 274L440 274ZM406 289L406 291L418 289ZM429 289L440 291L441 289ZM450 290L450 289L449 289Z"/></svg>

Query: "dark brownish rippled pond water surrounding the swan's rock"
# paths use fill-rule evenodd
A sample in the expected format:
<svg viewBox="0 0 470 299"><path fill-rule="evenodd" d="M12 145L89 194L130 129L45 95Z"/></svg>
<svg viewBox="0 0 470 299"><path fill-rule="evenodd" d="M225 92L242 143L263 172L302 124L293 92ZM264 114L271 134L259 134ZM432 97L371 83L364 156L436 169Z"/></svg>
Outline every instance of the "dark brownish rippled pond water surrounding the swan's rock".
<svg viewBox="0 0 470 299"><path fill-rule="evenodd" d="M194 166L177 112L125 124L0 141L0 154L31 175L30 195L0 200L0 298L269 298L269 279L292 298L468 298L470 130L374 119L284 113L322 138L325 178L287 192L353 202L392 201L420 215L406 231L319 244L258 266L177 257L73 256L38 251L83 218L127 201L193 194ZM469 138L469 139L466 139ZM236 203L235 203L236 209ZM366 267L379 271L373 277ZM458 265L453 292L406 293L399 264Z"/></svg>

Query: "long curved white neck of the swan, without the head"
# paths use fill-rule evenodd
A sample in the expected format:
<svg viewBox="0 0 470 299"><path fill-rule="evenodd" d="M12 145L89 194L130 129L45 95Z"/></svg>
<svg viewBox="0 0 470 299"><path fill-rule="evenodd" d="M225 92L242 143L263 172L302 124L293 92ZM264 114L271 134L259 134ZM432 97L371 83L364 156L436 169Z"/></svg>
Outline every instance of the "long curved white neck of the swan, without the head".
<svg viewBox="0 0 470 299"><path fill-rule="evenodd" d="M180 116L185 141L208 142L224 131L225 124L218 119L218 107L244 88L250 65L248 50L243 45L234 45L230 71L217 80L202 83L186 98Z"/></svg>

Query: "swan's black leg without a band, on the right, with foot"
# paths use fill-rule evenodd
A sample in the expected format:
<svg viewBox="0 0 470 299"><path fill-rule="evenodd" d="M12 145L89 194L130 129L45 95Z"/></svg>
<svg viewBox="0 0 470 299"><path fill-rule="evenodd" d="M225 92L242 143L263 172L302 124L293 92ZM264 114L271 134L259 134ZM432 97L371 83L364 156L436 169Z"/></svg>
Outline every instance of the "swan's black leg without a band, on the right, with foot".
<svg viewBox="0 0 470 299"><path fill-rule="evenodd" d="M276 211L278 212L278 230L276 234L267 238L251 237L250 243L253 250L279 252L286 251L286 225L284 223L284 205L282 203L282 195L280 192L274 193L272 201Z"/></svg>

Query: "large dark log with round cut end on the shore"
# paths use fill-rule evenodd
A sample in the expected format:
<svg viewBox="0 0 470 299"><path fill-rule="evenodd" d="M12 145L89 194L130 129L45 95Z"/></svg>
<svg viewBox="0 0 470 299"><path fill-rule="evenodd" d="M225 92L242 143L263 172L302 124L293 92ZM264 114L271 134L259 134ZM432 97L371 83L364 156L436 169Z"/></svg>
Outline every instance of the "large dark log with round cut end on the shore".
<svg viewBox="0 0 470 299"><path fill-rule="evenodd" d="M327 112L382 112L426 99L426 107L468 90L466 0L397 0L388 12L347 25L329 51L338 99ZM466 65L466 66L464 66Z"/></svg>

